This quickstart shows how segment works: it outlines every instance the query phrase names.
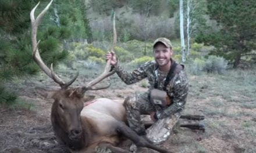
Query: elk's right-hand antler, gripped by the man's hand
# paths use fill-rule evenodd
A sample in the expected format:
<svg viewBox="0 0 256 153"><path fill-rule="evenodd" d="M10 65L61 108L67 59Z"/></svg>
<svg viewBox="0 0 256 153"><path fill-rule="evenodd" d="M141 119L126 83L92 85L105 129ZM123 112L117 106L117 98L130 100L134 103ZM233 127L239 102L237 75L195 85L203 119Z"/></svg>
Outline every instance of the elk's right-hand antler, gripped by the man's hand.
<svg viewBox="0 0 256 153"><path fill-rule="evenodd" d="M113 13L113 42L112 42L111 51L113 51L115 49L116 41L117 41L115 16L116 15L115 15L115 11L114 11L114 13ZM105 79L115 73L114 70L111 71L110 63L111 63L111 59L106 61L106 66L105 66L104 72L102 72L102 74L99 75L99 77L95 78L93 81L89 82L86 86L84 86L83 90L100 90L100 89L109 88L111 83L109 83L108 86L102 86L102 87L98 87L98 88L93 88L93 86L96 85L97 83L101 82L103 79Z"/></svg>

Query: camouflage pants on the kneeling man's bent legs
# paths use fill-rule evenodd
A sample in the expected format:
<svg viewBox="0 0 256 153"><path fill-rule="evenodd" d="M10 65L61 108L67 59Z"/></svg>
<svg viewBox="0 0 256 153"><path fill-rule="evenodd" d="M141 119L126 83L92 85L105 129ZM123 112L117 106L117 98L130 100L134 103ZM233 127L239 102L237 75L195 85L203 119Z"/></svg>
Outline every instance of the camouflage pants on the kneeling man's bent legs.
<svg viewBox="0 0 256 153"><path fill-rule="evenodd" d="M150 115L151 112L157 111L154 105L150 102L148 92L135 94L133 97L127 97L125 100L125 108L130 128L136 133L146 132L147 139L155 144L162 143L168 139L173 126L176 125L180 117L180 112L178 112L166 118L159 119L145 131L140 115Z"/></svg>

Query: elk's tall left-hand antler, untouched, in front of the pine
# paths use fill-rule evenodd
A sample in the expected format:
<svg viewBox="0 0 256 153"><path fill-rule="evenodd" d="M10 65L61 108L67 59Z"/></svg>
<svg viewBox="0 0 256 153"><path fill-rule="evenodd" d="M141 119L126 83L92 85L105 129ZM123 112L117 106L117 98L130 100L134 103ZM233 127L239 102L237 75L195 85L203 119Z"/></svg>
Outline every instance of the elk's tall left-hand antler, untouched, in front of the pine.
<svg viewBox="0 0 256 153"><path fill-rule="evenodd" d="M52 1L53 0L51 0L51 2L48 3L48 5L44 8L44 10L42 10L42 12L37 16L36 19L34 17L34 12L35 12L35 9L37 9L37 6L39 5L40 2L38 2L37 5L30 12L31 27L32 27L31 38L32 38L32 46L33 46L33 59L39 65L41 70L45 72L45 74L47 74L50 78L54 79L54 81L56 83L58 83L62 89L66 89L68 86L70 86L76 80L79 73L77 72L76 76L71 81L65 83L64 81L62 81L61 78L59 78L54 73L52 64L51 64L51 70L47 67L47 65L44 64L44 61L42 61L40 53L38 51L38 44L40 43L40 41L37 42L37 28L40 25L42 17L49 9L49 6L51 5Z"/></svg>

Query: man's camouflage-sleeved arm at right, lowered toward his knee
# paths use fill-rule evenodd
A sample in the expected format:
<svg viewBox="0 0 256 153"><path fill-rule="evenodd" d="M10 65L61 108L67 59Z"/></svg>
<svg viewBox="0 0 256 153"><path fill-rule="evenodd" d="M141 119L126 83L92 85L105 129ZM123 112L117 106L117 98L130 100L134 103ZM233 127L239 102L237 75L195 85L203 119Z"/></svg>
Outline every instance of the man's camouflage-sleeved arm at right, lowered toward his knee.
<svg viewBox="0 0 256 153"><path fill-rule="evenodd" d="M173 98L172 104L159 113L158 119L165 118L175 114L176 112L184 110L186 104L187 94L189 90L189 81L185 71L180 71L173 81Z"/></svg>

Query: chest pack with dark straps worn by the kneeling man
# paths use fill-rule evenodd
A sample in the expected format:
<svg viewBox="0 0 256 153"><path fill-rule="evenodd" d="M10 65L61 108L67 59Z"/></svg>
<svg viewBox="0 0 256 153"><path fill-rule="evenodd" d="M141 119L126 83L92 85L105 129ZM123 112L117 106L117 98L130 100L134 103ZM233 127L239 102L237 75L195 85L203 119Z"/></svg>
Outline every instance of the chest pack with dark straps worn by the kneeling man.
<svg viewBox="0 0 256 153"><path fill-rule="evenodd" d="M177 63L174 61L170 67L170 70L168 72L168 75L165 78L165 82L163 84L163 90L159 90L158 88L158 77L155 76L155 83L154 83L154 89L150 92L150 101L152 104L158 105L159 107L165 107L166 105L170 105L172 103L172 100L167 94L167 85L170 82L170 80L174 77L175 68L177 66ZM157 69L157 68L156 68Z"/></svg>

